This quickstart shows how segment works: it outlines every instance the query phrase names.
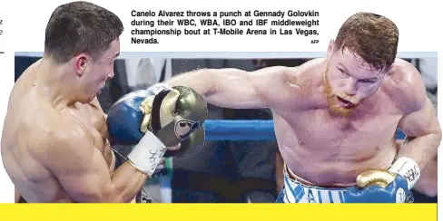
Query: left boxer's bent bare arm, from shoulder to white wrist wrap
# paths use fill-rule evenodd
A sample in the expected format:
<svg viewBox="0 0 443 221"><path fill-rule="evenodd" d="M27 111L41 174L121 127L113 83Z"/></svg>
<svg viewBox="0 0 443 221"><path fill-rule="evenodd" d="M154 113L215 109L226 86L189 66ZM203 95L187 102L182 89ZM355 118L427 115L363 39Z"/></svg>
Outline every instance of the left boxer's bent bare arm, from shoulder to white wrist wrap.
<svg viewBox="0 0 443 221"><path fill-rule="evenodd" d="M131 202L147 176L129 162L111 175L83 125L64 123L38 157L75 202Z"/></svg>

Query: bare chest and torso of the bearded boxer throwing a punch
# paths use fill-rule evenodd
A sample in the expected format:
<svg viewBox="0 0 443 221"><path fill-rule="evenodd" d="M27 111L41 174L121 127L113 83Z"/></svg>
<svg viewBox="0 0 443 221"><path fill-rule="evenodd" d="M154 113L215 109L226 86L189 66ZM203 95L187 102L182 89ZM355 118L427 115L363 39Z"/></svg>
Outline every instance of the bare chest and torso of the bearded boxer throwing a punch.
<svg viewBox="0 0 443 221"><path fill-rule="evenodd" d="M395 157L401 119L388 101L359 106L349 117L328 106L274 113L281 157L300 178L318 185L349 185L364 168L384 168Z"/></svg>

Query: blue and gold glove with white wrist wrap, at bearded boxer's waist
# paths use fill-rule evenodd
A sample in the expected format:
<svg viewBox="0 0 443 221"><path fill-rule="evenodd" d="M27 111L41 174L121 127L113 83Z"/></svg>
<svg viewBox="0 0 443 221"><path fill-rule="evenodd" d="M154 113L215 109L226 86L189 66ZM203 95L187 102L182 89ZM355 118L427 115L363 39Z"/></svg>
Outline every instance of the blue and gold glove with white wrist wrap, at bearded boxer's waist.
<svg viewBox="0 0 443 221"><path fill-rule="evenodd" d="M389 170L369 169L357 177L357 186L344 194L346 203L412 203L411 189L420 178L413 159L395 161Z"/></svg>

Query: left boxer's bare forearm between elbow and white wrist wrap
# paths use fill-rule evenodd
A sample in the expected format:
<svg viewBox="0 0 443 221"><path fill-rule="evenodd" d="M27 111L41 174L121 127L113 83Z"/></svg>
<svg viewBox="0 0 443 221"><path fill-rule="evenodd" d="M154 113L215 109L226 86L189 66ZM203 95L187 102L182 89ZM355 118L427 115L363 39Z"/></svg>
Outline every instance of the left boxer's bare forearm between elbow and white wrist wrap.
<svg viewBox="0 0 443 221"><path fill-rule="evenodd" d="M133 168L133 166L124 162L122 166L117 168L111 178L112 195L110 200L114 203L129 203L140 192L147 176Z"/></svg>

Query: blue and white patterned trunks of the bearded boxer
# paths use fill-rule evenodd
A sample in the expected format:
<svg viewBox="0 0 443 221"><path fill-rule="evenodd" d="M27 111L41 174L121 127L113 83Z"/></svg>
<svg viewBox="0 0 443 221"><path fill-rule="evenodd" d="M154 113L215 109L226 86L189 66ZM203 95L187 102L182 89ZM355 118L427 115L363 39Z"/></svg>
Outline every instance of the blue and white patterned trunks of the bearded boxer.
<svg viewBox="0 0 443 221"><path fill-rule="evenodd" d="M291 178L288 167L284 165L284 185L276 203L344 203L345 188L315 187Z"/></svg>

